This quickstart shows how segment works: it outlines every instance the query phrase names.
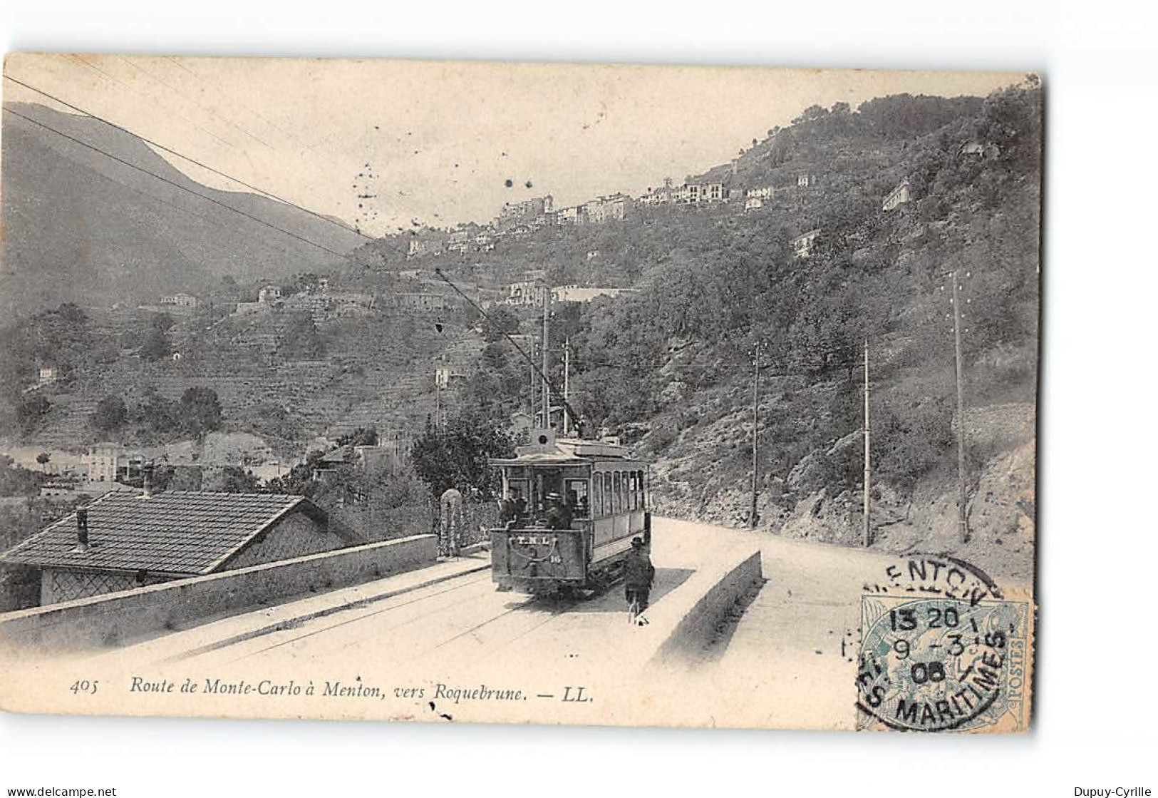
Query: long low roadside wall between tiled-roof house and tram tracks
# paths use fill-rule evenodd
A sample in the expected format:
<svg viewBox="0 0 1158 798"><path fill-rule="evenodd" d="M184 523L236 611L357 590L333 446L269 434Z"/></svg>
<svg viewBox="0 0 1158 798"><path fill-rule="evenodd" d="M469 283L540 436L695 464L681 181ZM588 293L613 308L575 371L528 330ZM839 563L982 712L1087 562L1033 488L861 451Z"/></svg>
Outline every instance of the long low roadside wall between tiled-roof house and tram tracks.
<svg viewBox="0 0 1158 798"><path fill-rule="evenodd" d="M413 535L3 613L0 646L63 652L124 645L292 596L410 571L437 557L434 535Z"/></svg>

